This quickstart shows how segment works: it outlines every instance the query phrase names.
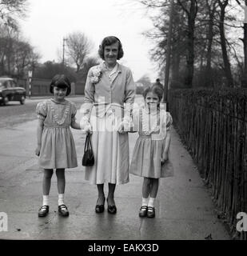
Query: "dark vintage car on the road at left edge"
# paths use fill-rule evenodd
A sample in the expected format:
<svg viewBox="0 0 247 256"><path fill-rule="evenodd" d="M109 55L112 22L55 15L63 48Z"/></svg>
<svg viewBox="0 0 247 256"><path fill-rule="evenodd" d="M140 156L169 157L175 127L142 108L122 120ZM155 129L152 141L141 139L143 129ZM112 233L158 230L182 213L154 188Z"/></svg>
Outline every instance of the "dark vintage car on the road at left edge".
<svg viewBox="0 0 247 256"><path fill-rule="evenodd" d="M6 105L9 101L25 103L26 89L18 86L13 78L0 78L0 103Z"/></svg>

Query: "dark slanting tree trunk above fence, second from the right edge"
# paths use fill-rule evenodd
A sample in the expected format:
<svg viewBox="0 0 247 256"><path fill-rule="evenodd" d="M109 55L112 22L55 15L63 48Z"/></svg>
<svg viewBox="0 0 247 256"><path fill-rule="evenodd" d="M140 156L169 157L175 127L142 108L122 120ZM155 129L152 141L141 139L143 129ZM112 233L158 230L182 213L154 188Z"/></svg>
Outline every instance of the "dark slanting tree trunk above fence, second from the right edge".
<svg viewBox="0 0 247 256"><path fill-rule="evenodd" d="M221 14L220 14L220 35L221 35L221 50L222 50L222 57L224 62L224 71L225 71L225 78L227 81L227 86L233 87L233 76L231 72L231 66L227 54L226 49L226 42L225 42L225 7L228 5L228 0L226 0L223 4L221 0L218 0L219 6L221 7Z"/></svg>

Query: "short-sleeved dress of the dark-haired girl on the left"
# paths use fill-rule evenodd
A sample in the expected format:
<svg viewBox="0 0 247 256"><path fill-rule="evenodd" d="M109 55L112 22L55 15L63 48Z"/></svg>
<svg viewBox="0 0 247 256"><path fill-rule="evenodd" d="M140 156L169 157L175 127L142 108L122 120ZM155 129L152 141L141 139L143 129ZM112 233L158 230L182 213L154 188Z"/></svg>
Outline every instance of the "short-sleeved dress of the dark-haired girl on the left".
<svg viewBox="0 0 247 256"><path fill-rule="evenodd" d="M36 107L38 118L44 120L42 147L39 164L43 169L74 168L78 166L74 138L70 123L75 120L76 106L65 100L53 98L39 102Z"/></svg>

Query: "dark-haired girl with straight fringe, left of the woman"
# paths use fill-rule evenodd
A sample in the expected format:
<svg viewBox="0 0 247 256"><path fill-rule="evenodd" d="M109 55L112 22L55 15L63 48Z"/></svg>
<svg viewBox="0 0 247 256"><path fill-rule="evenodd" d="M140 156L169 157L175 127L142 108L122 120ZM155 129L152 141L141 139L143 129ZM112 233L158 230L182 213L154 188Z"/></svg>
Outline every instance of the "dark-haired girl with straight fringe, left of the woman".
<svg viewBox="0 0 247 256"><path fill-rule="evenodd" d="M75 119L75 104L66 100L70 90L70 80L63 74L55 75L50 83L50 93L54 94L54 98L39 102L36 108L38 146L35 154L39 156L39 165L44 169L43 204L38 210L39 217L45 217L49 213L50 180L54 169L58 178L58 214L69 216L64 203L65 169L78 166L70 126L81 129Z"/></svg>

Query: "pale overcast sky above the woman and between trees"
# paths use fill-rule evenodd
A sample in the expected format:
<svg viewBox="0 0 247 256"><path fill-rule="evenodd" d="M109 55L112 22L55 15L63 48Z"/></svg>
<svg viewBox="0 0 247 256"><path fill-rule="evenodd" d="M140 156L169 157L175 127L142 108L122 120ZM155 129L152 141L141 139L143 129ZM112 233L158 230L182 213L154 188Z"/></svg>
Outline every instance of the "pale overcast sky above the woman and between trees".
<svg viewBox="0 0 247 256"><path fill-rule="evenodd" d="M67 34L86 34L94 44L94 56L102 39L115 35L125 53L120 63L132 70L134 81L144 74L151 82L157 78L157 66L149 59L151 42L142 35L152 29L152 22L135 0L30 0L21 26L24 37L42 55L41 62L58 61Z"/></svg>

